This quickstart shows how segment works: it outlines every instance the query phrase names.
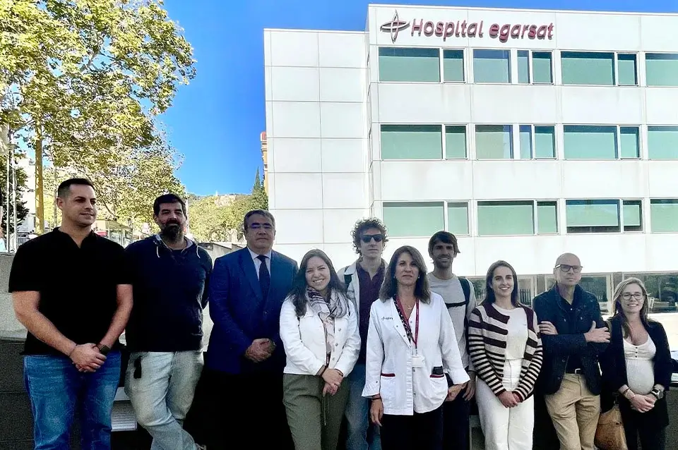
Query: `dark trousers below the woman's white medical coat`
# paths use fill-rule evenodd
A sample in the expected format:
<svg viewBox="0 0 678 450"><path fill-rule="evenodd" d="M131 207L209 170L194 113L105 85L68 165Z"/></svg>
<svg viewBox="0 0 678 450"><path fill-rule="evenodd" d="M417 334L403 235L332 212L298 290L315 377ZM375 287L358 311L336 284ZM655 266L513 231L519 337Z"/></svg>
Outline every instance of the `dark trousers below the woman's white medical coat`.
<svg viewBox="0 0 678 450"><path fill-rule="evenodd" d="M381 449L442 450L443 407L414 415L384 414L381 419Z"/></svg>

